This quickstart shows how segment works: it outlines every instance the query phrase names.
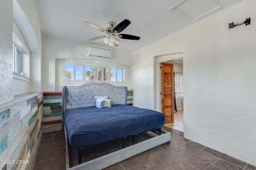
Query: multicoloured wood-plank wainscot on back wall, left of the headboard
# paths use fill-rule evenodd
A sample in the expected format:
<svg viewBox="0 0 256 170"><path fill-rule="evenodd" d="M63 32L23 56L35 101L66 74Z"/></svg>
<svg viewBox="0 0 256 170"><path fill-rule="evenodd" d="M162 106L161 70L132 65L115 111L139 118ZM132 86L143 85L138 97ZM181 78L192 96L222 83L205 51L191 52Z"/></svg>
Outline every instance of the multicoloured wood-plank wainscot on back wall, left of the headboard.
<svg viewBox="0 0 256 170"><path fill-rule="evenodd" d="M44 92L43 97L42 132L62 130L62 93Z"/></svg>

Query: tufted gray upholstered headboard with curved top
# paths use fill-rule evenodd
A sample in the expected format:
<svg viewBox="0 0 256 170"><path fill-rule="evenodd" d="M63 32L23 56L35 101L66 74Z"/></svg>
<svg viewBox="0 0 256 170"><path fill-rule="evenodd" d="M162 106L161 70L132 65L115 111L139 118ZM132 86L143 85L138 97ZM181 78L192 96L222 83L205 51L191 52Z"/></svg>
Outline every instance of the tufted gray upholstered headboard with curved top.
<svg viewBox="0 0 256 170"><path fill-rule="evenodd" d="M127 87L96 82L89 82L80 86L63 86L62 111L79 107L96 106L94 96L108 96L111 104L126 104Z"/></svg>

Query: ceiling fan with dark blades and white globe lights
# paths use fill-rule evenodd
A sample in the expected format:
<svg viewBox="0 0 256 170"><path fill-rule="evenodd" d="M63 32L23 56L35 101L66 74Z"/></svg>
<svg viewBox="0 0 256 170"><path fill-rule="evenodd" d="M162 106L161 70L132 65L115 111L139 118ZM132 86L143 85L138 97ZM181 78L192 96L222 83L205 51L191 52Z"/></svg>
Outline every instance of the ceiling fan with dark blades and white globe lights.
<svg viewBox="0 0 256 170"><path fill-rule="evenodd" d="M106 29L103 29L101 27L98 27L97 25L94 25L90 22L84 22L87 23L88 25L90 25L91 27L98 29L104 33L106 33L107 35L102 35L99 37L94 37L94 38L90 38L87 40L95 40L95 39L101 39L103 38L103 41L106 44L109 44L110 46L114 46L117 47L118 44L120 43L120 39L118 38L122 38L122 39L132 39L132 40L139 40L140 37L134 36L134 35L128 35L128 34L118 34L121 31L123 31L131 22L127 19L125 19L124 21L120 22L118 25L116 25L116 23L114 22L109 22L108 25L109 27L107 27ZM118 38L116 38L118 37Z"/></svg>

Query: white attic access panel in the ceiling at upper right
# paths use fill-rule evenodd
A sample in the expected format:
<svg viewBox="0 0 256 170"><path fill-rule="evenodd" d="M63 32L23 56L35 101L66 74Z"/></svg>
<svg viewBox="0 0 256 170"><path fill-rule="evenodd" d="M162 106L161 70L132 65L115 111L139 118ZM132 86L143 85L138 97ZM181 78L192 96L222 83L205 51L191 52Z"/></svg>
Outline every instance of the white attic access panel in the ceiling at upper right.
<svg viewBox="0 0 256 170"><path fill-rule="evenodd" d="M182 0L180 3L173 6L169 12L173 12L178 16L195 21L207 14L212 15L212 12L222 8L222 4L217 0Z"/></svg>

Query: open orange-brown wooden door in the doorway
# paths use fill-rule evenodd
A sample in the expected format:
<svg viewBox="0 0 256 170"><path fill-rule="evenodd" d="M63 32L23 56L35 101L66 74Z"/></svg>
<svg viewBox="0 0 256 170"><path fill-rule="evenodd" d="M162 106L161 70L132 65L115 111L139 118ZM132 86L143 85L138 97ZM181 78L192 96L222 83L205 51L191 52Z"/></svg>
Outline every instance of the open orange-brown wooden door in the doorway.
<svg viewBox="0 0 256 170"><path fill-rule="evenodd" d="M161 93L162 113L165 114L165 124L173 123L174 114L174 83L173 64L161 63Z"/></svg>

